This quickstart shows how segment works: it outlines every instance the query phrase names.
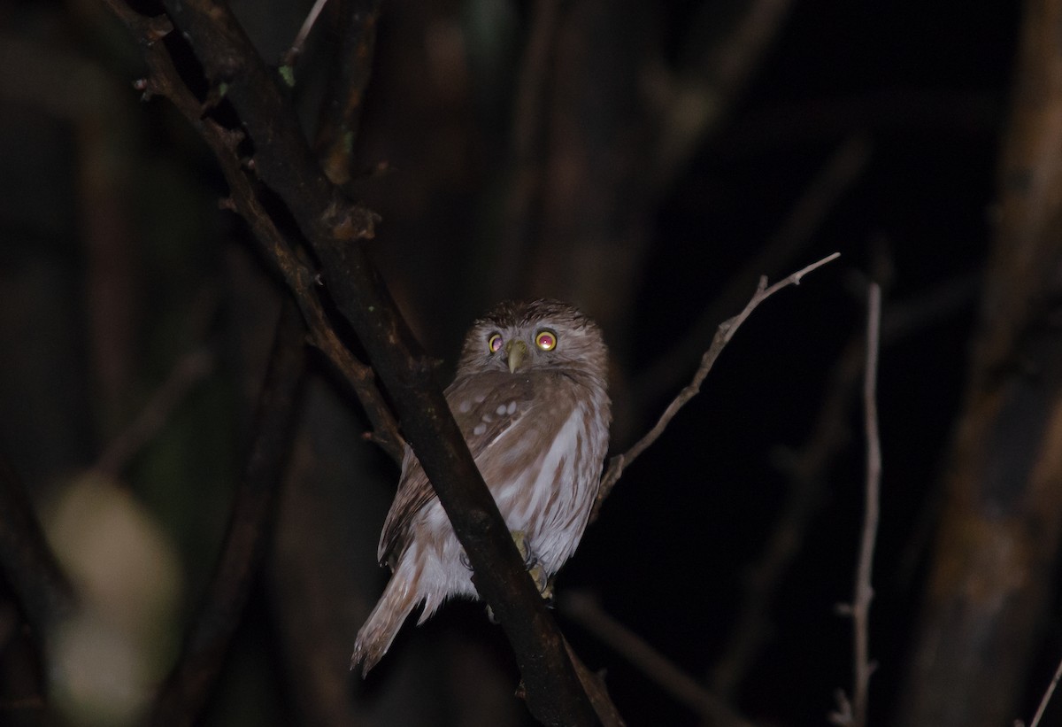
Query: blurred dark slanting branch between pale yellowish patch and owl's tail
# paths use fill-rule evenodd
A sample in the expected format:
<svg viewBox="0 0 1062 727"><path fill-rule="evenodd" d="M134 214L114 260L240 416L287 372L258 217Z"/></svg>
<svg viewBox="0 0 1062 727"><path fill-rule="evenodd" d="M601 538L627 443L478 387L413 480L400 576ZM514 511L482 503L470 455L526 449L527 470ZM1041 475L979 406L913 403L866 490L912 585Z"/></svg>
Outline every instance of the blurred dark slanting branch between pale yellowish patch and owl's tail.
<svg viewBox="0 0 1062 727"><path fill-rule="evenodd" d="M151 724L156 727L184 727L195 722L240 623L261 562L277 485L291 445L291 425L306 368L304 337L297 308L286 302L258 396L254 439L224 546L184 654L155 700Z"/></svg>

